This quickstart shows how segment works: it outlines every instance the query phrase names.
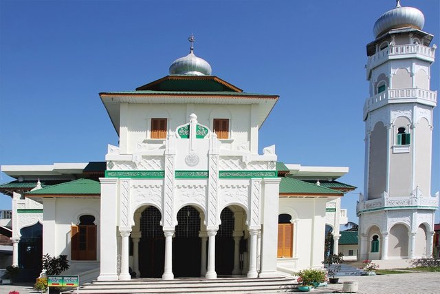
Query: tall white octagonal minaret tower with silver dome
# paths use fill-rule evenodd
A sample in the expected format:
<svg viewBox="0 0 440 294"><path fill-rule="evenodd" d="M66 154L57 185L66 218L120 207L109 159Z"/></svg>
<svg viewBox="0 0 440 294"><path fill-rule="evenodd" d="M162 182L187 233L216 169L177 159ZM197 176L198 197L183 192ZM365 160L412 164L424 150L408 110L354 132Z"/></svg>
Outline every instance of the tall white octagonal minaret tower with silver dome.
<svg viewBox="0 0 440 294"><path fill-rule="evenodd" d="M436 45L423 32L420 10L385 12L366 45L369 98L364 104L365 180L357 213L360 258L432 256L434 211L431 187L432 110L430 66Z"/></svg>

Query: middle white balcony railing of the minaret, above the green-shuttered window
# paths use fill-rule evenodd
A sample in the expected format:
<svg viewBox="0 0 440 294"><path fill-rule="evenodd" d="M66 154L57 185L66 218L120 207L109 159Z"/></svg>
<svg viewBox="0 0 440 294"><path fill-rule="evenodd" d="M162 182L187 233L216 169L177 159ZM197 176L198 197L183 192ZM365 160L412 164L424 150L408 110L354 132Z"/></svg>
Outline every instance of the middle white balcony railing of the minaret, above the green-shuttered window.
<svg viewBox="0 0 440 294"><path fill-rule="evenodd" d="M388 89L382 93L367 98L364 104L364 119L367 114L386 104L392 103L421 103L430 106L437 105L437 91L420 88Z"/></svg>

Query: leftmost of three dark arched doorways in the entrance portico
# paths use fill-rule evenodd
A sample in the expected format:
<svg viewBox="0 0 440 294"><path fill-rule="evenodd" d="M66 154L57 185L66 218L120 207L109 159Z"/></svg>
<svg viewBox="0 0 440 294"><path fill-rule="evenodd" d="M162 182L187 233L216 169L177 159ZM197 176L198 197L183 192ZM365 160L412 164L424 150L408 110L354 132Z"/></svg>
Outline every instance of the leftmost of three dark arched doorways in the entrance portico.
<svg viewBox="0 0 440 294"><path fill-rule="evenodd" d="M140 218L142 237L139 242L139 271L141 277L162 277L165 260L165 237L156 207L146 208Z"/></svg>

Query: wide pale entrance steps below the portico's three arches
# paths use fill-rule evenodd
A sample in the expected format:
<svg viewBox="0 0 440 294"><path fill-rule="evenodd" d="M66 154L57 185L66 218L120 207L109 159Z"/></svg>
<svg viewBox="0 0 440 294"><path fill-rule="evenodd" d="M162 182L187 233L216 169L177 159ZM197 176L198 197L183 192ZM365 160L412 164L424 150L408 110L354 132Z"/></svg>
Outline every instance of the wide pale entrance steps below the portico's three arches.
<svg viewBox="0 0 440 294"><path fill-rule="evenodd" d="M94 281L81 286L80 293L281 293L291 292L295 286L294 279L287 277L232 277L214 280L133 279L113 282ZM63 293L76 293L76 290Z"/></svg>

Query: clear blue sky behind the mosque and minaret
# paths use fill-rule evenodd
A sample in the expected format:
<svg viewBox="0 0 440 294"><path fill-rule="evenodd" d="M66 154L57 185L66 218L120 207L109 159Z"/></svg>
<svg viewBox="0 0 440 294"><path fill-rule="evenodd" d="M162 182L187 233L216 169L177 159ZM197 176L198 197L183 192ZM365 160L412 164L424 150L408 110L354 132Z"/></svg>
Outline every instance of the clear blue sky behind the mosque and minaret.
<svg viewBox="0 0 440 294"><path fill-rule="evenodd" d="M423 30L439 44L440 1L401 4L423 12ZM166 76L188 54L193 33L195 54L212 74L281 97L261 127L260 149L275 144L286 163L350 168L341 180L358 189L342 208L357 222L365 46L377 18L394 7L393 0L0 0L0 165L104 160L118 136L98 92ZM439 63L431 90L439 90ZM439 191L439 107L434 116L432 191ZM9 180L1 173L0 182ZM10 202L0 194L0 209Z"/></svg>

